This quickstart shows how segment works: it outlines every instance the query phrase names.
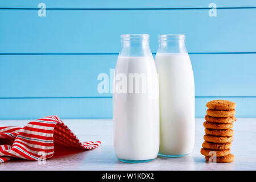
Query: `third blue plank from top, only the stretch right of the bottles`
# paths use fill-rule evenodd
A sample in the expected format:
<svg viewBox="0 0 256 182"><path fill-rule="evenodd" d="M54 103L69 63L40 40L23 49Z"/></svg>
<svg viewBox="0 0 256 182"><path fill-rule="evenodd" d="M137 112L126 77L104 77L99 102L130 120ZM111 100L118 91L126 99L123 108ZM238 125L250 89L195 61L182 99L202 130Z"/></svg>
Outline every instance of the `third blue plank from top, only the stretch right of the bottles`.
<svg viewBox="0 0 256 182"><path fill-rule="evenodd" d="M256 54L190 57L196 96L256 96Z"/></svg>

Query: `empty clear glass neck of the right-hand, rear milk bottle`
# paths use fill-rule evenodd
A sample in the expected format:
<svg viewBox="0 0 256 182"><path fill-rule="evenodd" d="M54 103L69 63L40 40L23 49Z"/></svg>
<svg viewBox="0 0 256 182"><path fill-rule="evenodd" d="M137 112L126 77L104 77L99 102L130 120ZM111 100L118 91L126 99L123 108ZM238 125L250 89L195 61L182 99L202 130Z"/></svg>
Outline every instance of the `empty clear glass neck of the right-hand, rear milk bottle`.
<svg viewBox="0 0 256 182"><path fill-rule="evenodd" d="M158 53L187 53L185 35L159 35Z"/></svg>

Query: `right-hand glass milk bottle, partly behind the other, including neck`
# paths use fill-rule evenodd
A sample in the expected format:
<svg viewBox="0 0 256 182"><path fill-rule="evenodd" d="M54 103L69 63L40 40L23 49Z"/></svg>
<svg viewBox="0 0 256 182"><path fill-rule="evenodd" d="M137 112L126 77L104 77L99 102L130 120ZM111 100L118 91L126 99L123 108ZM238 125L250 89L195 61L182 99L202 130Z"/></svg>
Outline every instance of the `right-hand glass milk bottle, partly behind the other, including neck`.
<svg viewBox="0 0 256 182"><path fill-rule="evenodd" d="M160 94L159 155L187 155L195 142L195 84L185 35L159 35L155 64Z"/></svg>

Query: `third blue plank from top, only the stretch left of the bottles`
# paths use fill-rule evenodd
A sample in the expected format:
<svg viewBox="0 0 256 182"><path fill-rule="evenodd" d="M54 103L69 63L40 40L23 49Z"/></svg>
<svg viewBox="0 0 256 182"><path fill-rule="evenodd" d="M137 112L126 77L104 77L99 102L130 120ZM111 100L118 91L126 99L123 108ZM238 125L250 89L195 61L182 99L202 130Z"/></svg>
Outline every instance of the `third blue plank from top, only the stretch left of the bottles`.
<svg viewBox="0 0 256 182"><path fill-rule="evenodd" d="M0 97L106 97L97 76L117 55L0 55Z"/></svg>

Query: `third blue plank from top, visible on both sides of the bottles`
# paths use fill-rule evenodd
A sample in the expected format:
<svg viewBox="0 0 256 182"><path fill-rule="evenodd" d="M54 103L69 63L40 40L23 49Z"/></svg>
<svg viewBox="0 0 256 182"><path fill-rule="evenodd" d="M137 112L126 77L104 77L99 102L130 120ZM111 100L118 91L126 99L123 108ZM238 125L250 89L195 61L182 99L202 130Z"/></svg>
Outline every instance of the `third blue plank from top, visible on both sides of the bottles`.
<svg viewBox="0 0 256 182"><path fill-rule="evenodd" d="M256 96L256 54L190 55L196 96ZM109 97L117 55L0 55L1 97ZM110 86L109 86L110 92Z"/></svg>

